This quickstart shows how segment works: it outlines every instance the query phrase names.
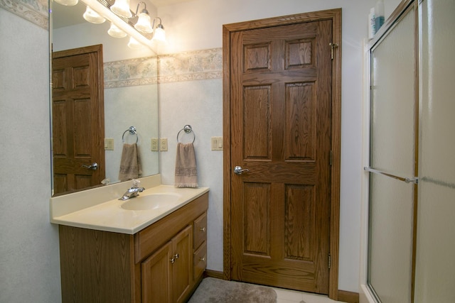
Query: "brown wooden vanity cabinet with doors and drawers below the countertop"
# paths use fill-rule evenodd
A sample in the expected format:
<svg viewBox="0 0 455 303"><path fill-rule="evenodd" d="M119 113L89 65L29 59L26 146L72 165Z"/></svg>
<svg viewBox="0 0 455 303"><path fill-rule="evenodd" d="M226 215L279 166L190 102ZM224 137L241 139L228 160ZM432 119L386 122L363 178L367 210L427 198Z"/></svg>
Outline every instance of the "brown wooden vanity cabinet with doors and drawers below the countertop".
<svg viewBox="0 0 455 303"><path fill-rule="evenodd" d="M60 225L62 302L186 302L203 277L208 193L129 235Z"/></svg>

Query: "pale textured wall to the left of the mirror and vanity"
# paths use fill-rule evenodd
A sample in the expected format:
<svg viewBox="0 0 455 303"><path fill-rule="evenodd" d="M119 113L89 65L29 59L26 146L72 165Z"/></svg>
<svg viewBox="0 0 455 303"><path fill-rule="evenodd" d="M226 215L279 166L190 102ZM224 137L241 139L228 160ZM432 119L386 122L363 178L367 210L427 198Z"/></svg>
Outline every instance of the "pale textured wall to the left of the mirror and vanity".
<svg viewBox="0 0 455 303"><path fill-rule="evenodd" d="M0 1L2 303L61 300L58 228L49 223L47 1L31 4Z"/></svg>

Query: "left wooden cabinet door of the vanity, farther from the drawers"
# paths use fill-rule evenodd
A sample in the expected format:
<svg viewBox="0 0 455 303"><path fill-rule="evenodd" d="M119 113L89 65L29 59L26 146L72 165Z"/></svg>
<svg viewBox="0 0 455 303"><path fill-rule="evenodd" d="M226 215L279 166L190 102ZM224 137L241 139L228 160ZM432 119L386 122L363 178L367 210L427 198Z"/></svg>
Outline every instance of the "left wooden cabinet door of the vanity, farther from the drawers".
<svg viewBox="0 0 455 303"><path fill-rule="evenodd" d="M172 302L172 241L142 262L142 302Z"/></svg>

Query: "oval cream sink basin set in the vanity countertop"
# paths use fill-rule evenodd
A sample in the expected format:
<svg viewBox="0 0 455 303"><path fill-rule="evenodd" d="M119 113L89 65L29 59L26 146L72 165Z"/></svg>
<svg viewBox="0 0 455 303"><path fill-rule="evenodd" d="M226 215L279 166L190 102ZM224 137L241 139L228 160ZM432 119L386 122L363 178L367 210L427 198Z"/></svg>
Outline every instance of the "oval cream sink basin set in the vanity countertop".
<svg viewBox="0 0 455 303"><path fill-rule="evenodd" d="M121 207L130 211L160 209L175 204L179 197L179 194L147 194L129 199Z"/></svg>

